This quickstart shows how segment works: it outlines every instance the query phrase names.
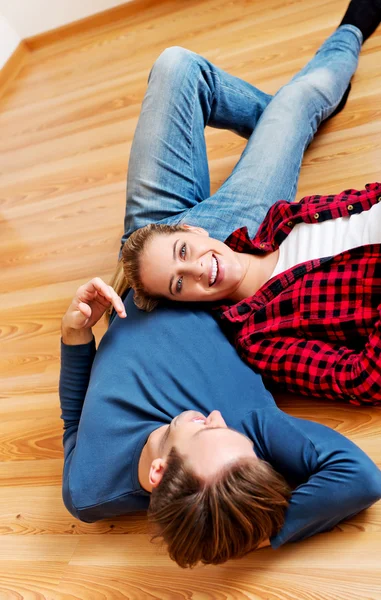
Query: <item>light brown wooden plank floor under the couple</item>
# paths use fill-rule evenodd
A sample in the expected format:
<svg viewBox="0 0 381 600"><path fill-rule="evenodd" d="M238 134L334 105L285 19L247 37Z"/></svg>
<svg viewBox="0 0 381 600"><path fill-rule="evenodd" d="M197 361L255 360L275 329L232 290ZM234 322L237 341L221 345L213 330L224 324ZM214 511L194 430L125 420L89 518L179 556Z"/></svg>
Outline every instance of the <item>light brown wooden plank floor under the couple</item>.
<svg viewBox="0 0 381 600"><path fill-rule="evenodd" d="M181 45L273 93L339 23L346 0L143 2L118 24L36 49L0 98L0 598L381 598L381 503L334 531L221 567L184 571L144 515L76 521L61 500L60 319L76 288L108 279L127 161L149 69ZM212 191L244 140L207 132ZM344 112L305 157L299 197L381 180L381 27ZM96 328L98 340L104 325ZM381 411L279 398L381 465Z"/></svg>

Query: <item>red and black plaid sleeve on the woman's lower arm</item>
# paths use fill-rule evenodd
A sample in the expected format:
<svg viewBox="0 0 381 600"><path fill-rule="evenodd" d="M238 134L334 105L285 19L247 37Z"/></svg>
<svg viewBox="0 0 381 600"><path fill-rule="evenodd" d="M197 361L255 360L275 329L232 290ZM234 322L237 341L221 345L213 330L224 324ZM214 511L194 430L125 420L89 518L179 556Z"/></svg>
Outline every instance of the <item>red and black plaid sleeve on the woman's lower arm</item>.
<svg viewBox="0 0 381 600"><path fill-rule="evenodd" d="M378 320L364 349L358 352L321 340L281 336L255 343L248 336L239 344L239 352L263 377L290 392L379 406L380 328Z"/></svg>

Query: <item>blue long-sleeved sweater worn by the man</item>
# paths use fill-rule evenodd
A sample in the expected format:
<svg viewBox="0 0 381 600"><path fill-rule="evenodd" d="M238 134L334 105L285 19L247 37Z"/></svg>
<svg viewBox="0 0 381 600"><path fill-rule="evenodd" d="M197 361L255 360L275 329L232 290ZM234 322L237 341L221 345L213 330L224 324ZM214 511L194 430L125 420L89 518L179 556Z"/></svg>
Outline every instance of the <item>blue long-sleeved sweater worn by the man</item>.
<svg viewBox="0 0 381 600"><path fill-rule="evenodd" d="M138 462L150 433L184 410L220 410L294 489L273 548L332 528L381 497L381 472L339 433L277 408L213 317L198 307L147 314L125 300L98 351L61 343L63 498L93 522L146 510ZM361 410L361 409L359 409Z"/></svg>

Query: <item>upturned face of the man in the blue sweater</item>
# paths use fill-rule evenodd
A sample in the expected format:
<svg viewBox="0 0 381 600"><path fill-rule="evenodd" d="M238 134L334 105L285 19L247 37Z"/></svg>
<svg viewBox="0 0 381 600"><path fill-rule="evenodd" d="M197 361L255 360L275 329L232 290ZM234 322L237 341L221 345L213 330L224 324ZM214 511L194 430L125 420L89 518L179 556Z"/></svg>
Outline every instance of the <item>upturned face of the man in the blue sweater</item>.
<svg viewBox="0 0 381 600"><path fill-rule="evenodd" d="M172 446L203 478L213 476L222 467L240 458L256 458L253 442L228 427L218 410L207 416L194 410L180 413L164 434L161 444L163 458Z"/></svg>

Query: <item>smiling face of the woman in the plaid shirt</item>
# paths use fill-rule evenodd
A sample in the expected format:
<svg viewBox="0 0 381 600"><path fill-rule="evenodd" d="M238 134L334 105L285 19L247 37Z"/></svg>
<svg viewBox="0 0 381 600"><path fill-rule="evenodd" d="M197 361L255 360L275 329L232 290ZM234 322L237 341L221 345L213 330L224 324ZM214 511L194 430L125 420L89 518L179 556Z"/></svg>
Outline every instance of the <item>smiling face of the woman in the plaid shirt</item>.
<svg viewBox="0 0 381 600"><path fill-rule="evenodd" d="M145 290L181 302L212 302L234 297L246 273L243 255L209 237L204 229L156 234L141 260Z"/></svg>

